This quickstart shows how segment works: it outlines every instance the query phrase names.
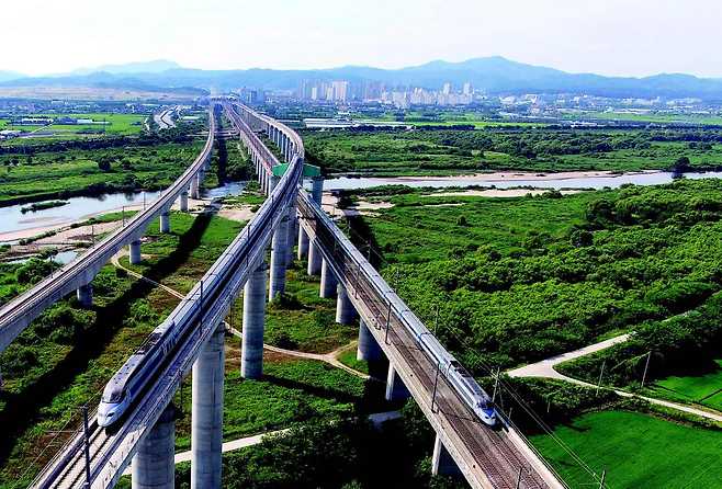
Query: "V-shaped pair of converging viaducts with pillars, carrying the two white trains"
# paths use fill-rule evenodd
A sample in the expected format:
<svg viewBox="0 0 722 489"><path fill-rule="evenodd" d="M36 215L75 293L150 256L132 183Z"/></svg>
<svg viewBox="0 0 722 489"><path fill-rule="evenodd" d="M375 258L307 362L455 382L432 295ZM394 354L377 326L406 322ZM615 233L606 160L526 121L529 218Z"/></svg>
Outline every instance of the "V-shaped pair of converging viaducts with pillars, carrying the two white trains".
<svg viewBox="0 0 722 489"><path fill-rule="evenodd" d="M134 488L172 488L172 398L191 371L191 487L221 487L223 321L242 291L241 376L260 377L266 303L284 291L296 239L300 257L308 255L308 273L321 275L320 294L337 297L337 321L350 323L360 317L359 357L387 357L386 397L413 396L433 427L435 473L461 473L473 488L564 487L504 416L500 430L487 428L455 387L438 376L437 365L409 329L422 327L419 319L320 209L323 181L304 169L301 137L249 107L221 104L239 130L268 197L165 320L190 332L168 353L123 421L111 431L99 428L92 417L88 429L72 436L32 487L112 487L132 465ZM278 146L281 160L258 133ZM311 194L302 186L304 173L316 175Z"/></svg>

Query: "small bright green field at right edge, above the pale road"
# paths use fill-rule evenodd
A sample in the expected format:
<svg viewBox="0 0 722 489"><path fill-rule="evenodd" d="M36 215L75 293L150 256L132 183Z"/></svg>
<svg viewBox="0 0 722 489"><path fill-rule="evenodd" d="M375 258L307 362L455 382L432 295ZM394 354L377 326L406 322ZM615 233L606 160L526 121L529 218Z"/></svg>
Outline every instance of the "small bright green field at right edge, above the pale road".
<svg viewBox="0 0 722 489"><path fill-rule="evenodd" d="M647 389L650 395L682 402L696 402L722 411L722 359L711 362L710 368L688 375L669 376Z"/></svg>

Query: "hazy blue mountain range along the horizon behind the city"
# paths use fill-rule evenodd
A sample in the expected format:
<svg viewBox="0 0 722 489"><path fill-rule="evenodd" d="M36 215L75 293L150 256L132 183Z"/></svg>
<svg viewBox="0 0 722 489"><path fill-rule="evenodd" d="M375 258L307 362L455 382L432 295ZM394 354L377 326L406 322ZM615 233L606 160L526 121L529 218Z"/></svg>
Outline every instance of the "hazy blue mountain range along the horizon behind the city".
<svg viewBox="0 0 722 489"><path fill-rule="evenodd" d="M662 73L652 77L606 77L569 73L553 68L511 61L500 56L462 62L442 60L401 69L346 66L313 70L202 70L182 68L168 60L108 65L46 77L22 77L0 71L0 87L115 87L146 90L232 90L241 87L295 90L304 79L375 81L387 87L439 89L445 82L461 87L471 82L489 94L575 93L612 98L698 98L722 101L722 80L691 75Z"/></svg>

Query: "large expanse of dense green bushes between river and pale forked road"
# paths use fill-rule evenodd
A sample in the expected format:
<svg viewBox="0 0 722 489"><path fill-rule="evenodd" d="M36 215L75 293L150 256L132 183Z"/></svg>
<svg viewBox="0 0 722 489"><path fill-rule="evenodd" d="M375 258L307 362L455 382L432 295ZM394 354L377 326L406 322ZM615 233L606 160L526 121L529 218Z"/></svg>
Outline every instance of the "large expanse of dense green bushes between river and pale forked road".
<svg viewBox="0 0 722 489"><path fill-rule="evenodd" d="M496 201L414 193L364 220L392 285L427 322L438 308L440 337L467 364L511 366L720 291L721 191L717 180L682 180ZM700 353L696 340L681 352Z"/></svg>

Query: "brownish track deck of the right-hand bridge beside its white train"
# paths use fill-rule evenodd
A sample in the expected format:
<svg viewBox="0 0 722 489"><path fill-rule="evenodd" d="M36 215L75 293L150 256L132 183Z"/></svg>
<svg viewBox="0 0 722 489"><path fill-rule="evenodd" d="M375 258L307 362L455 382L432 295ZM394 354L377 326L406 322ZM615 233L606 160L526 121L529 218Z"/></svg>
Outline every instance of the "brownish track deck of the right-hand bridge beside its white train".
<svg viewBox="0 0 722 489"><path fill-rule="evenodd" d="M321 211L311 204L307 196L300 196L298 201L304 229L311 237L318 238L316 242L323 255L347 288L359 315L471 486L510 489L563 487L523 445L518 433L507 427L490 429L483 424L442 375L438 377L432 406L437 365L404 325L402 315L411 314L410 310L390 308L385 292L393 294L393 291L383 278L377 273L369 273L370 264L350 241L339 239L340 230L327 216L320 216ZM346 243L339 243L343 240ZM361 261L368 266L359 266ZM380 289L380 283L384 288Z"/></svg>

